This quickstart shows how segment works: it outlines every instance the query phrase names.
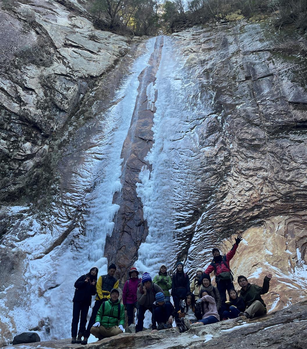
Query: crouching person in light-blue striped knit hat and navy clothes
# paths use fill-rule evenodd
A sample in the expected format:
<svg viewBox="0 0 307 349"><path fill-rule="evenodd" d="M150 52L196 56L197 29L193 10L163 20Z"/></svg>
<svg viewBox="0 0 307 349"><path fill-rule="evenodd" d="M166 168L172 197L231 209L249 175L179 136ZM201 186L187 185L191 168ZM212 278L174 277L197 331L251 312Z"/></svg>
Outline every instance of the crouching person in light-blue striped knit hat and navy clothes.
<svg viewBox="0 0 307 349"><path fill-rule="evenodd" d="M154 309L154 320L158 324L158 331L160 329L172 328L173 319L175 318L176 312L174 306L166 302L162 292L156 294L156 301L153 304ZM153 329L153 331L156 331Z"/></svg>

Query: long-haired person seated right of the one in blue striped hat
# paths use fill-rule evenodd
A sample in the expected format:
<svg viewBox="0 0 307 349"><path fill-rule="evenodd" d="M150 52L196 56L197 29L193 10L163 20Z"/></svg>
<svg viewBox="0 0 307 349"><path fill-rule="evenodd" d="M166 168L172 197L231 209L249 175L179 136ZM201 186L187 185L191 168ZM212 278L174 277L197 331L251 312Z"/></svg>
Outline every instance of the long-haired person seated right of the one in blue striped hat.
<svg viewBox="0 0 307 349"><path fill-rule="evenodd" d="M185 297L184 306L178 311L178 317L176 318L176 325L179 328L179 332L185 332L190 329L190 325L197 322L201 309L199 304L195 303L195 296L193 293L187 294Z"/></svg>

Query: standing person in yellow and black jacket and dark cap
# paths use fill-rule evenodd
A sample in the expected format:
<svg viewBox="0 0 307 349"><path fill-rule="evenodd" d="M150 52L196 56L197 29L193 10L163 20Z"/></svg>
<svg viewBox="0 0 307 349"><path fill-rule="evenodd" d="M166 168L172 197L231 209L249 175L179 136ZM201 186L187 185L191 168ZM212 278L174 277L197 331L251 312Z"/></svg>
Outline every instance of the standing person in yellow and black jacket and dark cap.
<svg viewBox="0 0 307 349"><path fill-rule="evenodd" d="M108 274L99 276L99 279L96 284L96 292L97 296L95 299L95 304L92 309L92 315L89 323L87 324L86 331L83 335L83 341L81 344L87 344L87 339L90 336L90 330L95 322L97 312L102 304L102 302L106 302L110 299L110 292L114 288L118 288L118 280L115 279L114 274L116 272L115 264L110 264L108 267Z"/></svg>

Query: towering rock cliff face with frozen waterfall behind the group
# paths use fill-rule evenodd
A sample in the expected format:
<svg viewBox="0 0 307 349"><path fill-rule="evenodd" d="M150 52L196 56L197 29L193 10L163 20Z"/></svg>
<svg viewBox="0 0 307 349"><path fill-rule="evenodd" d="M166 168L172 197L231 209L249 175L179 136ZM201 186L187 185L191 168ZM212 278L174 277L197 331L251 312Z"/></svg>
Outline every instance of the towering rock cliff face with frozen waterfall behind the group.
<svg viewBox="0 0 307 349"><path fill-rule="evenodd" d="M2 343L68 337L93 264L192 276L238 233L269 310L306 297L306 41L243 21L129 46L65 4L0 14Z"/></svg>

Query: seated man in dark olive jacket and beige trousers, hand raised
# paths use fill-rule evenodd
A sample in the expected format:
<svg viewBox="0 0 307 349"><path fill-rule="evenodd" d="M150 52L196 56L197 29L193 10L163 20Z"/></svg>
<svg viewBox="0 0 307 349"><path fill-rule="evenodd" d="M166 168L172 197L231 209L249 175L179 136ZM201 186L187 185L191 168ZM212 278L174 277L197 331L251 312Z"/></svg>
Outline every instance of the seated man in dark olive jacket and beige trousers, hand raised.
<svg viewBox="0 0 307 349"><path fill-rule="evenodd" d="M241 286L240 298L243 299L247 309L240 315L245 315L248 319L261 316L267 313L266 304L263 302L261 295L266 294L270 288L272 274L264 276L262 287L250 284L243 275L238 276L238 284Z"/></svg>

